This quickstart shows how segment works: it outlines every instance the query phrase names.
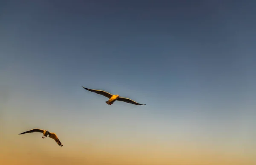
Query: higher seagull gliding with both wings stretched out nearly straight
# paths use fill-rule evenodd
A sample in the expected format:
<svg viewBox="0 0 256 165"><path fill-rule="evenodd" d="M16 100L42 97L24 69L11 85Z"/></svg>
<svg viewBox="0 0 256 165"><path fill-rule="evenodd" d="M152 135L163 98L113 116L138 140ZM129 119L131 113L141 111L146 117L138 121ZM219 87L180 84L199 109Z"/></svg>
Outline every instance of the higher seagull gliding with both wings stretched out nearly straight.
<svg viewBox="0 0 256 165"><path fill-rule="evenodd" d="M81 87L83 87L83 86L81 86ZM83 87L83 88L86 89L86 90L88 90L88 91L90 91L90 92L94 92L94 93L97 93L97 94L99 94L99 95L103 95L103 96L109 98L109 100L106 101L106 103L107 103L108 105L113 104L116 100L117 100L117 101L124 101L124 102L126 102L126 103L132 103L132 104L135 104L135 105L138 105L138 106L140 106L140 105L146 105L146 104L137 103L137 102L135 102L135 101L133 101L133 100L131 100L131 99L129 99L129 98L122 98L122 97L120 97L119 95L112 95L112 94L110 94L110 93L108 93L108 92L105 92L105 91L103 91L103 90L88 89L88 88L85 88L85 87Z"/></svg>

